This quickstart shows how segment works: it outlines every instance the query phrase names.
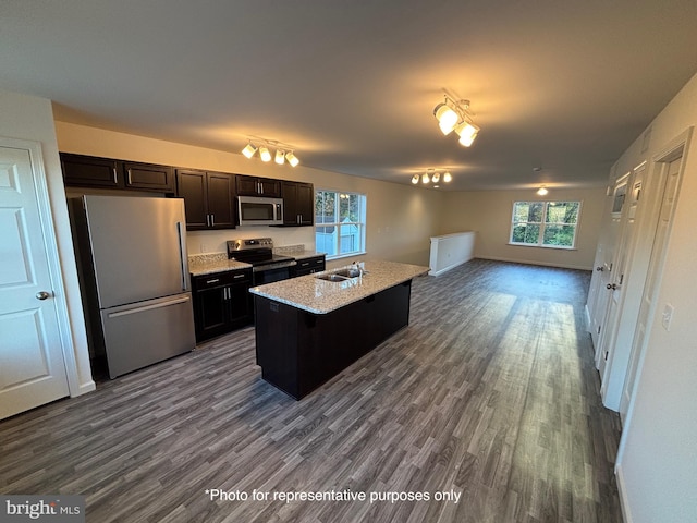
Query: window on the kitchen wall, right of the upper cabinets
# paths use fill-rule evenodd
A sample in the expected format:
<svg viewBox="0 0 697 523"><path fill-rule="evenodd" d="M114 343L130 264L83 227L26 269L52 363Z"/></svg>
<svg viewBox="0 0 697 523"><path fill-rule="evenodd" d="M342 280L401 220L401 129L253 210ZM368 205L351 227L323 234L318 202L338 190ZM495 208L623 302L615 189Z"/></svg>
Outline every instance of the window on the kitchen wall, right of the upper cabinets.
<svg viewBox="0 0 697 523"><path fill-rule="evenodd" d="M315 191L315 248L327 258L365 253L366 196Z"/></svg>

